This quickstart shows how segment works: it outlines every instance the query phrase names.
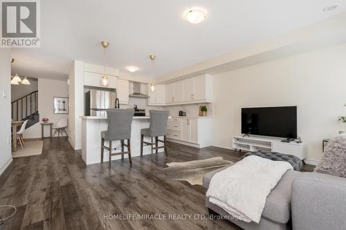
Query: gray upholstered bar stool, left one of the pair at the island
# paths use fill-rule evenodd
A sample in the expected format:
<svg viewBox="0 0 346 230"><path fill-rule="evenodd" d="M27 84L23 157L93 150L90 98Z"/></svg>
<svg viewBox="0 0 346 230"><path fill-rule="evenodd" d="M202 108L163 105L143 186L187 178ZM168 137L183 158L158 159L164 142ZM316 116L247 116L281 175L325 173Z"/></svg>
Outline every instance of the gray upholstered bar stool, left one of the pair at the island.
<svg viewBox="0 0 346 230"><path fill-rule="evenodd" d="M134 111L128 109L107 109L108 128L107 131L101 132L101 162L103 162L104 148L109 151L108 166L111 167L111 156L121 155L124 159L124 154L129 155L129 162L132 165L131 159L131 123L134 118ZM104 140L109 141L109 147L104 146ZM111 153L111 142L121 141L121 152ZM124 143L127 140L127 144ZM127 147L127 152L124 152L124 146ZM116 148L113 148L116 150Z"/></svg>

